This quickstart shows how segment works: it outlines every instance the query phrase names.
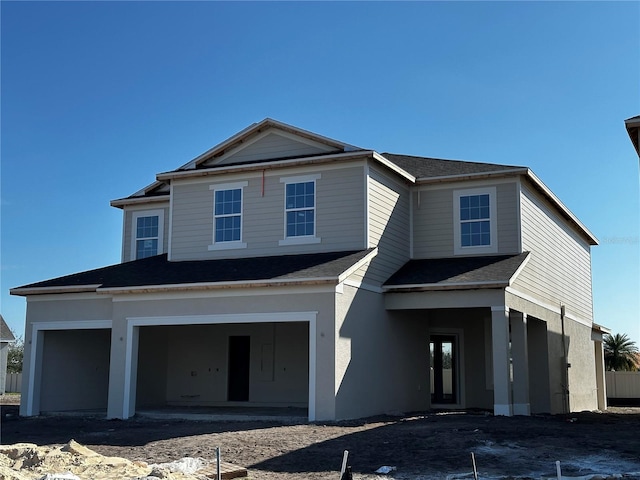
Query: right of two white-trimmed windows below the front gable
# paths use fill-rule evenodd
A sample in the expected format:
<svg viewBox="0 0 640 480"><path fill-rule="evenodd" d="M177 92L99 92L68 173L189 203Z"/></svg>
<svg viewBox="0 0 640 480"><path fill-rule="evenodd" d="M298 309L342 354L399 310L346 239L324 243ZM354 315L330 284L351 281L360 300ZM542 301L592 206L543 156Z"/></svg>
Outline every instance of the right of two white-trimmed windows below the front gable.
<svg viewBox="0 0 640 480"><path fill-rule="evenodd" d="M284 187L285 238L280 245L319 243L316 236L316 180L319 174L280 179Z"/></svg>

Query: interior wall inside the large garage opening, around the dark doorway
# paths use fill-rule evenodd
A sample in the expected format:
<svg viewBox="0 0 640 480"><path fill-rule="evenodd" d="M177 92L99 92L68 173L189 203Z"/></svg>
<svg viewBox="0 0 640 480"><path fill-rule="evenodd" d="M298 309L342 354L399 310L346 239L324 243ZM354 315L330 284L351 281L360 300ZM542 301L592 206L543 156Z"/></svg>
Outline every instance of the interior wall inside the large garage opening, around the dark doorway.
<svg viewBox="0 0 640 480"><path fill-rule="evenodd" d="M302 322L141 327L137 405L228 404L234 335L250 337L246 405L307 406L309 333Z"/></svg>

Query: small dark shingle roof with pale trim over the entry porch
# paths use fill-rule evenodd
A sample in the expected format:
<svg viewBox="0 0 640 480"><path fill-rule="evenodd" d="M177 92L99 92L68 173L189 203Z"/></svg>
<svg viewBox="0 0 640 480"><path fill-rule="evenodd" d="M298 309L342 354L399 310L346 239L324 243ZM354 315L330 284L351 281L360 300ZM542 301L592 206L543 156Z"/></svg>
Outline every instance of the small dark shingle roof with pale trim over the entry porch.
<svg viewBox="0 0 640 480"><path fill-rule="evenodd" d="M385 291L504 288L515 280L528 258L529 252L410 260L383 287Z"/></svg>

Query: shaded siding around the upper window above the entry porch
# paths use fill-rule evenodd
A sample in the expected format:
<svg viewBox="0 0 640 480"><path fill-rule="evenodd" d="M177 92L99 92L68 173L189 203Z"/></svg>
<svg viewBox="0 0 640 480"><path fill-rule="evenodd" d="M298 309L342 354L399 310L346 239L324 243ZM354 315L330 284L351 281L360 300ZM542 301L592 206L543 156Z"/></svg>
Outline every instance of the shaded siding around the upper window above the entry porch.
<svg viewBox="0 0 640 480"><path fill-rule="evenodd" d="M454 255L453 192L477 185L421 190L412 195L413 256L438 258ZM496 188L498 254L519 253L517 184L499 183ZM418 201L419 198L419 201Z"/></svg>

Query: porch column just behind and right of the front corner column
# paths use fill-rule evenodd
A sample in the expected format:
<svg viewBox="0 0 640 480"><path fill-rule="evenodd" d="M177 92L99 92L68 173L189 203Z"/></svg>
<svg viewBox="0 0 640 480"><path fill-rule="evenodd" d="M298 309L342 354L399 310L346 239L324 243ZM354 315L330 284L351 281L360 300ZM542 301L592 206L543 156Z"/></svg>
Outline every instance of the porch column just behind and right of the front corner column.
<svg viewBox="0 0 640 480"><path fill-rule="evenodd" d="M513 414L531 415L527 314L511 310L509 322L511 324L511 357L513 361Z"/></svg>

